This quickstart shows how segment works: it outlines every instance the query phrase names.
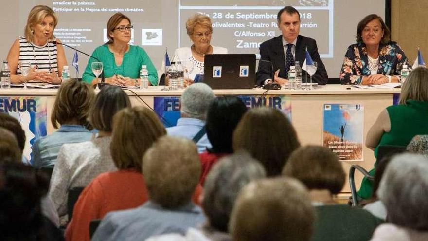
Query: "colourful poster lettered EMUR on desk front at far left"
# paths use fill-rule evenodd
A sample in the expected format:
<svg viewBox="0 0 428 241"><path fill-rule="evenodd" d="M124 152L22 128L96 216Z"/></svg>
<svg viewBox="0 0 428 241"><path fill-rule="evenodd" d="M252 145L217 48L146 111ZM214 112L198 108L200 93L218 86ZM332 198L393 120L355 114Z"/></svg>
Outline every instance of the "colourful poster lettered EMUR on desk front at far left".
<svg viewBox="0 0 428 241"><path fill-rule="evenodd" d="M46 136L46 97L0 96L0 112L15 117L25 131L23 156L30 160L31 146L34 141Z"/></svg>

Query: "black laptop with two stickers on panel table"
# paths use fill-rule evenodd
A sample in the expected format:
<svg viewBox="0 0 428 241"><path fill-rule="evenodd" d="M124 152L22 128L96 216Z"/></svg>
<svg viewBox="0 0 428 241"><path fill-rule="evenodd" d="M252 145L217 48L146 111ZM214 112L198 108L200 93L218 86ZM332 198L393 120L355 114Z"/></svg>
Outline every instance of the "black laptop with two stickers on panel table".
<svg viewBox="0 0 428 241"><path fill-rule="evenodd" d="M205 55L203 82L212 89L254 88L256 55Z"/></svg>

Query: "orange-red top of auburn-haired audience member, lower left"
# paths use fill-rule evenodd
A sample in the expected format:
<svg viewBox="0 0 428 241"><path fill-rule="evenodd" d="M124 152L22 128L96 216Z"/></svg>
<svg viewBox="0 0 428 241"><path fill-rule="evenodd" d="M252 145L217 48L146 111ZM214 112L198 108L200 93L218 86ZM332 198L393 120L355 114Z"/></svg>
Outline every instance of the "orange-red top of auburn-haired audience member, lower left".
<svg viewBox="0 0 428 241"><path fill-rule="evenodd" d="M202 187L196 186L192 200L200 204ZM74 204L73 218L67 226L67 241L89 241L89 223L115 210L135 208L148 200L143 175L132 169L102 173L85 187Z"/></svg>

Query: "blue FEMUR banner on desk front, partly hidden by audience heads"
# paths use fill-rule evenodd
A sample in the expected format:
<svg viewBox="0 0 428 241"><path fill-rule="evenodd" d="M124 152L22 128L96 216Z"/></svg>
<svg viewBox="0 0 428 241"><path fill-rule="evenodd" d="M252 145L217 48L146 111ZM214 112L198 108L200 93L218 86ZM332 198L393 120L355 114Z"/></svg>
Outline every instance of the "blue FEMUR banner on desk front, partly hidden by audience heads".
<svg viewBox="0 0 428 241"><path fill-rule="evenodd" d="M291 97L290 95L237 95L248 108L268 106L282 111L291 121ZM177 125L180 118L179 96L155 96L153 97L153 109L160 116L165 127Z"/></svg>

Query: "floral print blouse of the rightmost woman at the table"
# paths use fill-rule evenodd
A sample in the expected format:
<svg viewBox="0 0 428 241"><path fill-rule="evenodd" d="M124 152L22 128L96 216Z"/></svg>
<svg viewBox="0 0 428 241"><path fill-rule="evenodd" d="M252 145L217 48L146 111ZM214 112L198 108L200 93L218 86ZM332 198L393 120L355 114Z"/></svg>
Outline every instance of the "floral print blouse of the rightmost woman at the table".
<svg viewBox="0 0 428 241"><path fill-rule="evenodd" d="M406 55L396 42L379 46L377 74L399 76L404 63L411 70ZM356 43L349 46L340 70L340 83L360 85L362 77L370 74L366 45Z"/></svg>

